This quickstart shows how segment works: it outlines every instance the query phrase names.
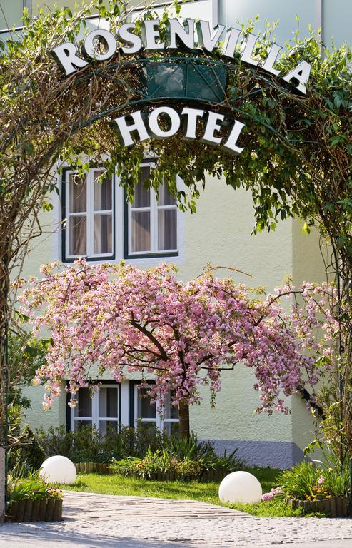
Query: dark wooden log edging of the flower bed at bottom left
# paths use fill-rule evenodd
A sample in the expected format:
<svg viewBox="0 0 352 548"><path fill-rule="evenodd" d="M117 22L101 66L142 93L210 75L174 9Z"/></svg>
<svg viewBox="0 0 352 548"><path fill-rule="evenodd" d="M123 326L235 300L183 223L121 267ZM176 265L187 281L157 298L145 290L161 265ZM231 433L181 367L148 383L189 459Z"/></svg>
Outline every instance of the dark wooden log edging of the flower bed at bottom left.
<svg viewBox="0 0 352 548"><path fill-rule="evenodd" d="M11 522L60 522L62 500L15 500L11 502L6 518Z"/></svg>

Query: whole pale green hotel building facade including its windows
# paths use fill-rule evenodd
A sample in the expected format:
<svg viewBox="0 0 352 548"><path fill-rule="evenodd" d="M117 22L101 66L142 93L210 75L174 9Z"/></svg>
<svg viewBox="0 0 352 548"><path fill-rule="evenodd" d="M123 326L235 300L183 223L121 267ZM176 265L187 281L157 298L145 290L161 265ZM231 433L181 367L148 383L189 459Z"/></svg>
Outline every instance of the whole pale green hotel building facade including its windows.
<svg viewBox="0 0 352 548"><path fill-rule="evenodd" d="M44 4L50 7L54 1L46 0ZM58 4L74 6L74 1ZM138 10L140 3L130 4ZM34 15L38 9L37 0L6 0L2 5L2 29L20 26L24 7ZM278 19L276 42L281 45L292 38L298 26L301 35L306 34L308 25L322 29L326 44L332 38L337 46L352 39L349 0L194 0L181 7L181 16L201 16L213 26L236 26L238 21L246 23L257 14L260 17L253 32L263 31L266 20ZM89 21L92 28L95 24ZM4 31L2 36L6 34ZM178 266L182 280L195 278L207 263L226 265L250 273L250 285L265 285L269 291L287 275L295 285L303 280L324 280L318 236L314 232L303 234L297 219L281 223L274 233L251 235L254 218L250 194L233 191L226 181L210 175L206 175L196 215L181 213L166 187L161 188L159 198L154 191L144 189L142 183L151 168L150 159L141 164L132 204L126 203L117 177L96 183L100 173L97 168L89 171L77 189L72 173L64 169L58 176L60 194L52 196L54 210L42 214L43 234L31 245L24 275L39 275L42 263L70 263L85 256L94 263L124 258L139 268L172 262ZM247 282L240 274L234 274L234 278ZM171 432L178 420L175 410L166 409L162 419L155 405L141 399L137 390L139 375L130 375L121 385L109 375L96 380L102 383L101 390L91 399L88 390L81 389L75 410L68 407L63 390L53 408L44 412L44 387L26 387L24 392L31 400L26 422L34 428L66 424L76 429L79 424L94 424L104 432L108 423L132 426L141 420ZM216 408L211 409L206 389L201 405L191 407L191 430L200 439L213 440L220 452L238 447L238 455L248 464L289 467L303 458L303 448L312 439L314 424L306 401L301 395L288 398L289 415L255 415L259 400L253 382L252 372L244 366L224 372Z"/></svg>

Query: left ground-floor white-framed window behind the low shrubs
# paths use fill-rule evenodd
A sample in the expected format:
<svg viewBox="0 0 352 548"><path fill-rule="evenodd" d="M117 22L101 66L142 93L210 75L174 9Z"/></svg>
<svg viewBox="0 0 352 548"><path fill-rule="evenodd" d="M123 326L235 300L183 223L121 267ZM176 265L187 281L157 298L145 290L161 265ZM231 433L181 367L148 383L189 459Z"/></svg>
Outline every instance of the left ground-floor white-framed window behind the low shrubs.
<svg viewBox="0 0 352 548"><path fill-rule="evenodd" d="M76 432L81 426L96 427L106 434L109 427L119 427L119 385L100 386L93 396L89 388L80 388L76 395L77 405L71 409L71 430Z"/></svg>

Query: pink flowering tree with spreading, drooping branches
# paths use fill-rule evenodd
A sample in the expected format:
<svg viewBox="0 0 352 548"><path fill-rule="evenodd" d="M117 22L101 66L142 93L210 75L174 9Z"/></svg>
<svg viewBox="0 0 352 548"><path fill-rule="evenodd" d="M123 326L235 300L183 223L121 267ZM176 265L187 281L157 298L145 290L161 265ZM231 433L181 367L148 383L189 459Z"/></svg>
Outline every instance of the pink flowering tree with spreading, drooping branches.
<svg viewBox="0 0 352 548"><path fill-rule="evenodd" d="M331 365L336 323L323 287L306 284L295 291L288 285L276 295L256 295L211 271L183 283L172 265L139 270L85 260L64 268L43 265L41 273L44 278L32 279L21 301L34 334L51 333L35 379L46 383L45 408L67 378L74 406L79 388L87 387L96 371L111 372L117 382L139 371L154 378L146 387L161 411L171 392L181 435L188 436L189 405L201 399L200 387L209 387L214 402L221 372L238 362L253 370L258 411L268 413L287 413L283 396L306 383L315 385ZM301 295L303 305L295 299L290 309L281 301L293 295Z"/></svg>

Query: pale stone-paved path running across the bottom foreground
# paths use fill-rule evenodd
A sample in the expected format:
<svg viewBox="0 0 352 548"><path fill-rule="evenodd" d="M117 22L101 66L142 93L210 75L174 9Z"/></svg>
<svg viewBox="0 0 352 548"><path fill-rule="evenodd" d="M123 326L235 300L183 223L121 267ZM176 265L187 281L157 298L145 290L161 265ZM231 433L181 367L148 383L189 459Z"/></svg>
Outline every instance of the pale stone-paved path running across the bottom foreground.
<svg viewBox="0 0 352 548"><path fill-rule="evenodd" d="M352 519L256 518L194 501L64 494L64 522L0 525L0 548L352 548Z"/></svg>

